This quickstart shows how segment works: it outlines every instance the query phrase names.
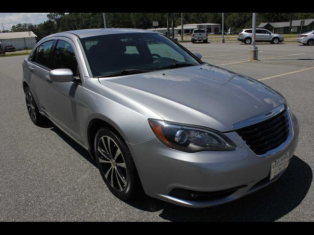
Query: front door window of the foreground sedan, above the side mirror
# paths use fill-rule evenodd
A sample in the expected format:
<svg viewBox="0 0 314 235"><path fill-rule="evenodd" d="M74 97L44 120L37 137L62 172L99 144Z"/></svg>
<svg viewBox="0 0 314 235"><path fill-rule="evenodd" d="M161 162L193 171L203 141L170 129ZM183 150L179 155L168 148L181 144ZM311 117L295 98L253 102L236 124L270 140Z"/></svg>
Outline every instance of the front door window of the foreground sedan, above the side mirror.
<svg viewBox="0 0 314 235"><path fill-rule="evenodd" d="M74 49L68 42L58 40L53 53L52 69L70 69L74 76L79 76Z"/></svg>

